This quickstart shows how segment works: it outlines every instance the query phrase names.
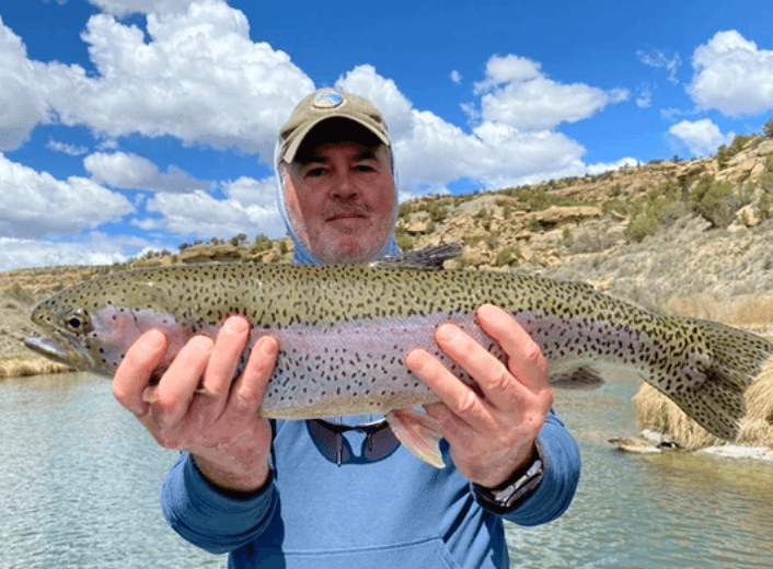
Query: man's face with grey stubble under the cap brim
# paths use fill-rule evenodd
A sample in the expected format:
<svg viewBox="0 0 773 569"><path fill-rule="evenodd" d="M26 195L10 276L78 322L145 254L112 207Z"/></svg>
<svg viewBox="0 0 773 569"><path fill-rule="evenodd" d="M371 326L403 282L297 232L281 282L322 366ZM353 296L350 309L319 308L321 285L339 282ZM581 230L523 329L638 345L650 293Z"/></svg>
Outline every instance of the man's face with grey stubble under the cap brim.
<svg viewBox="0 0 773 569"><path fill-rule="evenodd" d="M395 198L386 147L321 144L284 175L290 222L323 263L371 260L384 246Z"/></svg>

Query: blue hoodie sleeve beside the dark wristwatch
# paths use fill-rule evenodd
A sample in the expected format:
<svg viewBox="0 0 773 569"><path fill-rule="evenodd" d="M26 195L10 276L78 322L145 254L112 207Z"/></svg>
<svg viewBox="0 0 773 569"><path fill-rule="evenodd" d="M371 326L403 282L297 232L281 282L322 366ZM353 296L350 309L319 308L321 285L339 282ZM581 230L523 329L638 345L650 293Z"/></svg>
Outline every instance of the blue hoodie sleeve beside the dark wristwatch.
<svg viewBox="0 0 773 569"><path fill-rule="evenodd" d="M552 409L538 441L543 460L540 485L512 511L495 512L518 525L540 525L561 516L572 503L579 481L579 449Z"/></svg>

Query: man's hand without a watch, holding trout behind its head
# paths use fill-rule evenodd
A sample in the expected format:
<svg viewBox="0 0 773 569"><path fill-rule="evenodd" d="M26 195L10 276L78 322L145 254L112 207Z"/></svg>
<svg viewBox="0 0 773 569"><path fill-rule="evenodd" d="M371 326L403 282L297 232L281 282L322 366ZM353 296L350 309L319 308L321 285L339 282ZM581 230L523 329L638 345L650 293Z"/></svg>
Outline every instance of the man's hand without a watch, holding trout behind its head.
<svg viewBox="0 0 773 569"><path fill-rule="evenodd" d="M270 425L257 410L278 345L274 338L261 338L234 379L249 334L246 320L228 318L216 341L192 338L151 386L148 382L166 350L166 337L150 330L126 352L113 380L116 399L161 446L191 452L206 478L236 492L265 484L272 444Z"/></svg>

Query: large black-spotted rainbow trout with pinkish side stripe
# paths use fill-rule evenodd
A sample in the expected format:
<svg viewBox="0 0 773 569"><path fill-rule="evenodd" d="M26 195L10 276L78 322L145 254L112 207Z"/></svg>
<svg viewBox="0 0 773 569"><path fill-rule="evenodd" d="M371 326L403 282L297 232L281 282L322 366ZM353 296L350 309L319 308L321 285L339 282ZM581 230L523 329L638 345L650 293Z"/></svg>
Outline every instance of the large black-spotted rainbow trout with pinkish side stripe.
<svg viewBox="0 0 773 569"><path fill-rule="evenodd" d="M25 345L112 378L129 346L158 328L169 338L158 379L188 338L215 337L227 316L244 314L252 323L250 347L263 335L279 341L262 415L385 414L397 438L437 465L439 451L429 451L426 437L412 438L407 432L416 429L405 428L424 415L412 407L438 397L407 371L404 358L423 347L472 385L438 349L434 330L452 322L503 357L475 323L475 310L492 303L531 334L552 380L572 381L599 364L625 368L706 430L724 439L737 436L746 415L743 392L771 358L770 341L714 322L656 315L588 284L437 269L458 253L459 247L440 246L361 265L210 264L117 272L39 303L32 320L47 337Z"/></svg>

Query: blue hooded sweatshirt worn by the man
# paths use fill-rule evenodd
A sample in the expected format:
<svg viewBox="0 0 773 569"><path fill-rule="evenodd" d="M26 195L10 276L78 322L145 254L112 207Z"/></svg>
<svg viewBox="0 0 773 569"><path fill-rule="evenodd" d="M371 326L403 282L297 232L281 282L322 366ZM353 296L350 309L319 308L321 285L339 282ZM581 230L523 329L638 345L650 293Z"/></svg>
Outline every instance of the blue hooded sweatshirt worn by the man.
<svg viewBox="0 0 773 569"><path fill-rule="evenodd" d="M295 234L297 263L319 263ZM396 210L396 208L395 208ZM396 253L393 235L382 251ZM358 425L372 417L346 417ZM220 493L181 454L163 485L161 504L170 525L210 553L228 553L229 568L373 569L509 567L503 518L537 525L559 516L579 479L579 451L551 411L539 436L544 475L515 510L497 514L482 506L472 485L453 466L437 469L403 446L366 457L361 431L341 434L349 451L343 464L320 451L325 441L311 421L274 421L273 478L247 499ZM391 433L390 433L391 434ZM517 558L517 553L515 553Z"/></svg>

